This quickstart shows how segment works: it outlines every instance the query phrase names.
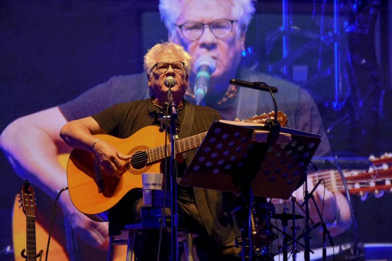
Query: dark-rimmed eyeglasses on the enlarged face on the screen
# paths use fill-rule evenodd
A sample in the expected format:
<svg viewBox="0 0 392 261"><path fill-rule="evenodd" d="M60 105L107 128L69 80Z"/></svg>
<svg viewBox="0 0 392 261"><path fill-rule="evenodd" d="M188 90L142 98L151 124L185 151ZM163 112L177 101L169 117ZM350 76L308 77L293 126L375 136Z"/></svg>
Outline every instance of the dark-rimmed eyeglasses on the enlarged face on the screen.
<svg viewBox="0 0 392 261"><path fill-rule="evenodd" d="M222 38L228 36L233 30L233 23L237 20L218 19L209 24L198 22L187 22L177 27L181 30L181 34L188 40L194 41L202 37L205 26L209 26L210 31L216 37Z"/></svg>

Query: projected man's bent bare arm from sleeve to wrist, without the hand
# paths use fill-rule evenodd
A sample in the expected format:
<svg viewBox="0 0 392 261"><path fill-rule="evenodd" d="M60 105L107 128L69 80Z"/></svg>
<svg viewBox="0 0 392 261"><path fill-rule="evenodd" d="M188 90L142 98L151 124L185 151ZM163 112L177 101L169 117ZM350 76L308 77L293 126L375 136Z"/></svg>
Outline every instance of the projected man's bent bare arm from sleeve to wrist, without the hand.
<svg viewBox="0 0 392 261"><path fill-rule="evenodd" d="M67 184L57 161L58 154L70 152L58 136L66 122L58 107L53 107L18 118L0 136L0 146L14 171L52 198Z"/></svg>

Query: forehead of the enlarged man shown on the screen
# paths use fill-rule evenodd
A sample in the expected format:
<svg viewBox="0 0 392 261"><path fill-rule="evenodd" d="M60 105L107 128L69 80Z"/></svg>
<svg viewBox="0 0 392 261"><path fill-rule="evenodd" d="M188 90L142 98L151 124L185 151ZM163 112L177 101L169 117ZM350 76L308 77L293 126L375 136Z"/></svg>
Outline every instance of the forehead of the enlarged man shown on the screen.
<svg viewBox="0 0 392 261"><path fill-rule="evenodd" d="M180 22L211 22L216 19L235 19L231 13L233 1L229 0L184 0L180 4Z"/></svg>

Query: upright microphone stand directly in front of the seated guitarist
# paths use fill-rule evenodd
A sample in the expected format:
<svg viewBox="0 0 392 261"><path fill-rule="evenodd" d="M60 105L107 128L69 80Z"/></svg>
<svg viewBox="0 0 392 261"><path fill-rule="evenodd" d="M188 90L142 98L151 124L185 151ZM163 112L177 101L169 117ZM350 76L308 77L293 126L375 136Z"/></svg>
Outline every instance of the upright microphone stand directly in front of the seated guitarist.
<svg viewBox="0 0 392 261"><path fill-rule="evenodd" d="M175 167L175 141L176 141L176 125L175 120L178 116L176 104L173 100L173 93L171 87L167 92L168 106L170 110L170 187L171 187L171 199L170 199L170 227L171 227L171 260L178 260L178 245L177 245L177 230L178 230L178 217L177 217L177 172Z"/></svg>

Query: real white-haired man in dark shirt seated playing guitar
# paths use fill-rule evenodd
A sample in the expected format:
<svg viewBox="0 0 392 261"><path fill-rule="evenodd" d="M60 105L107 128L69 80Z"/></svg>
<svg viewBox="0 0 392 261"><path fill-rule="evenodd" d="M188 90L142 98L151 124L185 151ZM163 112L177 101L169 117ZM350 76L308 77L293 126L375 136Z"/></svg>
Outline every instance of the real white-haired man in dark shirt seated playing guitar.
<svg viewBox="0 0 392 261"><path fill-rule="evenodd" d="M111 134L119 138L127 138L145 126L159 124L158 120L151 117L150 114L152 111L165 113L168 88L164 81L167 77L175 78L175 84L171 87L171 91L175 104L178 104L176 125L180 129L179 138L208 131L211 123L221 118L219 113L205 106L193 105L183 99L188 83L190 61L189 54L176 44L155 45L144 59L148 88L151 93L150 98L116 104L92 116L72 120L61 128L60 136L70 147L93 153L106 171L115 174L131 156L121 154L113 145L103 140L97 140L93 135ZM185 132L188 126L190 131L187 134ZM194 153L195 149L187 153L186 161L183 163L184 167L190 163ZM184 168L179 167L178 169ZM205 237L204 240L211 240L215 243L214 247L210 247L214 251L208 251L207 254L211 260L231 258L231 255L220 256L221 252L230 252L234 257L239 256L239 250L233 241L238 236L239 229L231 215L230 207L224 204L221 194L221 192L206 189L192 189L183 186L178 188L179 224L198 233L199 236ZM143 200L139 198L133 208L139 217L142 204ZM126 208L121 209L121 213L122 215L127 213ZM220 216L219 219L218 216ZM138 217L136 219L138 220ZM116 221L110 220L111 222ZM205 225L209 222L214 222L214 226ZM156 259L159 233L155 232L157 231L138 233L135 240L137 246L134 248L137 260ZM233 251L227 249L230 248L227 245L231 241L233 243L230 244L230 247L234 249ZM162 242L167 244L170 242L170 237L164 237ZM161 249L160 260L167 260L170 247L166 245Z"/></svg>

